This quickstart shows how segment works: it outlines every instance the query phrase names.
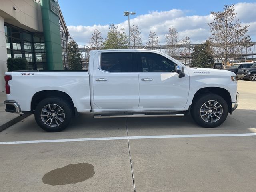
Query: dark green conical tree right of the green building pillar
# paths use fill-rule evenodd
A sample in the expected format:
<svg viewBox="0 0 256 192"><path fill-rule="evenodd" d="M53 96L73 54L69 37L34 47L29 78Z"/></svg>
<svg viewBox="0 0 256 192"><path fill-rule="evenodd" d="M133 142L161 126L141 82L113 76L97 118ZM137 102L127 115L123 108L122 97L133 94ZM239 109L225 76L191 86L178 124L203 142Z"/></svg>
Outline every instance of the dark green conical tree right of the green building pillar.
<svg viewBox="0 0 256 192"><path fill-rule="evenodd" d="M67 45L68 66L69 70L82 70L81 52L79 52L78 44L73 38L70 38Z"/></svg>

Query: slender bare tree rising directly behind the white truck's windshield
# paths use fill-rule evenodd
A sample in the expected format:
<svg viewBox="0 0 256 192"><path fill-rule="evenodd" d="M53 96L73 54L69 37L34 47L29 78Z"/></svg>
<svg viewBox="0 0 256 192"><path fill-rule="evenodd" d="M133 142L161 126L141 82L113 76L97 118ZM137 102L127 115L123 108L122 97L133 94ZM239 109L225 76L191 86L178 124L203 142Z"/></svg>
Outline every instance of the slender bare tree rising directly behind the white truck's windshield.
<svg viewBox="0 0 256 192"><path fill-rule="evenodd" d="M170 27L168 34L165 36L165 44L168 46L167 54L171 57L176 56L176 48L175 46L178 44L179 35L175 28Z"/></svg>

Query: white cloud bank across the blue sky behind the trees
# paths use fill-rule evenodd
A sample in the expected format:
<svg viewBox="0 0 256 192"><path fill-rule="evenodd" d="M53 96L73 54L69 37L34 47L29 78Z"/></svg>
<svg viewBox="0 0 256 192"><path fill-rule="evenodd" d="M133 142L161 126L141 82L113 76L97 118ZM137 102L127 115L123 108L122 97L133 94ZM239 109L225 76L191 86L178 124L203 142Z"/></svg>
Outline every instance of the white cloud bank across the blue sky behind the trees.
<svg viewBox="0 0 256 192"><path fill-rule="evenodd" d="M256 41L256 21L255 13L256 3L238 3L235 5L235 12L242 25L250 25L248 34L252 41ZM220 10L222 11L222 10ZM139 25L142 31L142 43L146 44L150 31L154 31L160 44L164 44L164 34L168 32L168 28L173 26L178 31L179 37L190 37L193 44L202 43L210 36L207 23L212 21L212 16L186 16L186 10L172 9L169 11L153 11L145 15L131 16L130 25ZM118 28L124 28L128 34L128 20L115 24ZM70 36L78 42L79 45L88 45L90 37L97 28L102 32L105 39L109 25L94 26L68 26Z"/></svg>

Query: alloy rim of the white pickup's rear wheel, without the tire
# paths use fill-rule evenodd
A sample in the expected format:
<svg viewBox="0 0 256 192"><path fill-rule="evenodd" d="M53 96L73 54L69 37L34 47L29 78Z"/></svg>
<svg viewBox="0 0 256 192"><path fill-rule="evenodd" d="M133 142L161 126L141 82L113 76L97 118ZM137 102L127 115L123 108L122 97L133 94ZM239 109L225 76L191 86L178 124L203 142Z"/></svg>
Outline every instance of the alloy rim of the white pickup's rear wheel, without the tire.
<svg viewBox="0 0 256 192"><path fill-rule="evenodd" d="M48 104L41 111L41 119L44 124L50 127L56 127L64 121L65 113L59 105Z"/></svg>

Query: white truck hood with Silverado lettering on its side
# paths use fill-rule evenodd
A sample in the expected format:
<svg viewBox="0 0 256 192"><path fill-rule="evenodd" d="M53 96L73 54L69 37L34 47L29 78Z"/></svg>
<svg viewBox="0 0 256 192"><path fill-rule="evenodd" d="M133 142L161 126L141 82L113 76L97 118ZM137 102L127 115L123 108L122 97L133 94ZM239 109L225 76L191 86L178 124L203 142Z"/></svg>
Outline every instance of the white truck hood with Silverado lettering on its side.
<svg viewBox="0 0 256 192"><path fill-rule="evenodd" d="M220 76L236 76L234 72L220 69L210 68L191 68L187 67L190 75L220 75Z"/></svg>

